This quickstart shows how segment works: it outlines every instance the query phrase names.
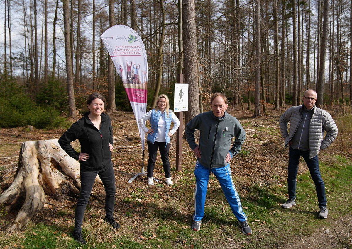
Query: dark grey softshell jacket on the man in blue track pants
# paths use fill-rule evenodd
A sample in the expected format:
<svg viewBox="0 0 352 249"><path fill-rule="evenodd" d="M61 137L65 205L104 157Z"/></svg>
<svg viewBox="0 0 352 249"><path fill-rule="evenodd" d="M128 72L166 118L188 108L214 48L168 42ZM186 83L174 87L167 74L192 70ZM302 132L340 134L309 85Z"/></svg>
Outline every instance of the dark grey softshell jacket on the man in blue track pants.
<svg viewBox="0 0 352 249"><path fill-rule="evenodd" d="M194 132L200 130L199 145L195 142ZM237 155L246 139L246 133L240 122L225 111L225 116L215 117L213 111L195 116L186 125L187 142L193 150L199 146L201 158L199 163L208 168L220 168L228 165L225 158ZM235 137L232 148L231 141Z"/></svg>

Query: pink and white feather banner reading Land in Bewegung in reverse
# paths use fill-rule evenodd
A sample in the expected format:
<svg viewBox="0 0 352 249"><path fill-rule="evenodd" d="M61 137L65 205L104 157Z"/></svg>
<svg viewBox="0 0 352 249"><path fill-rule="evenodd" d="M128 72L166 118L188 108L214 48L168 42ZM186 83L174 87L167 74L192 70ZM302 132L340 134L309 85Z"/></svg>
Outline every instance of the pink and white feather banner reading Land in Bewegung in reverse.
<svg viewBox="0 0 352 249"><path fill-rule="evenodd" d="M100 36L124 83L136 121L147 108L147 54L142 39L132 28L115 25ZM140 141L144 150L145 132L139 127Z"/></svg>

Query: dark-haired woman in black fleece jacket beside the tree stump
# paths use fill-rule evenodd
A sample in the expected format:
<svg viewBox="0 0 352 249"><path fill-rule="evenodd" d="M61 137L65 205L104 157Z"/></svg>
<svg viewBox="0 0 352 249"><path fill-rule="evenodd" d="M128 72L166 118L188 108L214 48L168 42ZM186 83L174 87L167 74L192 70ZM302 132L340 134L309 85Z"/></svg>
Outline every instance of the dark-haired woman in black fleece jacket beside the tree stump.
<svg viewBox="0 0 352 249"><path fill-rule="evenodd" d="M120 225L114 220L115 203L115 174L111 161L113 150L113 137L111 119L104 114L106 101L104 96L94 92L87 99L88 111L84 116L73 123L73 125L61 136L59 145L67 154L80 161L81 166L81 190L75 209L75 230L74 240L86 244L82 236L82 223L84 212L93 189L95 177L99 174L105 187L105 221L113 228ZM71 142L78 139L81 144L81 152L76 152Z"/></svg>

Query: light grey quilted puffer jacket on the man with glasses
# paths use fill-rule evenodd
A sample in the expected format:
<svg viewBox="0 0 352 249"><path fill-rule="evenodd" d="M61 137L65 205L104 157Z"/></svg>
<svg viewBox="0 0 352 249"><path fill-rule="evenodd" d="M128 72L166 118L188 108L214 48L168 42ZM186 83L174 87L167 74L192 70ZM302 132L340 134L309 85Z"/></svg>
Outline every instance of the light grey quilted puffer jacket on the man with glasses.
<svg viewBox="0 0 352 249"><path fill-rule="evenodd" d="M302 106L293 106L287 109L280 117L279 124L281 135L285 138L285 146L293 138L296 129L301 122ZM288 123L290 129L288 130ZM326 135L324 137L324 131ZM318 155L320 149L326 149L337 136L337 126L330 114L314 105L312 119L309 122L309 158Z"/></svg>

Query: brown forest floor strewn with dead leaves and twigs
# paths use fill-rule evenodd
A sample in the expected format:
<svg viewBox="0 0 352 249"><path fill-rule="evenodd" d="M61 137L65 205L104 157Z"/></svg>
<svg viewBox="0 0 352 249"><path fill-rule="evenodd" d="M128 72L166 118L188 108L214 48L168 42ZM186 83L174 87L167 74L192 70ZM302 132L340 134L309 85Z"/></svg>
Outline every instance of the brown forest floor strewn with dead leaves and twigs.
<svg viewBox="0 0 352 249"><path fill-rule="evenodd" d="M237 117L237 119L243 125L247 139L242 147L242 151L237 155L235 159L230 162L232 168L233 179L237 187L237 191L241 198L248 198L249 187L252 184L258 186L265 186L268 184L277 184L278 186L286 187L287 184L287 161L288 161L288 150L283 146L283 141L279 132L278 119L284 110L275 111L272 110L271 106L268 106L268 115L262 117L252 118L252 111L243 111L241 109L235 109L229 107L228 113ZM335 113L335 115L337 115ZM189 148L187 141L183 140L183 158L182 158L182 171L177 172L175 169L176 159L176 134L171 139L170 146L170 164L172 167L172 181L174 186L168 186L165 184L164 171L162 168L161 159L158 153L157 163L155 167L154 177L159 179L160 182L156 183L155 186L148 186L146 179L143 175L128 183L128 180L134 175L134 172L140 172L141 161L142 161L142 146L140 145L139 133L134 119L133 113L127 112L116 112L109 114L113 123L114 131L114 151L113 151L113 165L115 169L116 177L116 188L117 188L117 205L115 206L115 213L121 226L136 229L136 234L142 234L143 229L139 231L138 226L143 227L144 218L138 216L138 209L143 209L145 205L139 205L137 208L133 204L136 200L139 200L141 204L150 203L159 198L160 202L167 202L170 200L169 197L180 198L178 193L183 193L185 190L185 179L193 179L193 169L195 164L195 157L191 149ZM333 116L334 117L334 116ZM183 128L184 129L184 128ZM5 190L12 183L14 175L18 166L18 155L21 143L24 141L33 140L47 140L47 139L58 139L64 132L63 129L56 130L34 130L29 131L26 127L18 128L6 128L0 129L0 191ZM79 149L78 141L73 142L73 147ZM341 149L341 148L339 148ZM352 148L344 148L344 155L351 155ZM340 154L337 150L337 145L332 145L327 149L326 152L320 153L320 161L328 162L332 155ZM348 158L348 156L347 156ZM148 159L147 146L145 146L145 159L144 166L146 171L146 164ZM308 168L304 162L300 163L299 172L304 173L308 171ZM324 179L324 175L323 179ZM186 188L188 187L191 191L194 191L194 180L186 180ZM179 183L179 184L178 184ZM181 184L182 183L182 184ZM182 189L181 189L182 188ZM219 184L216 179L210 179L208 191L217 191ZM143 198L138 199L140 191L143 191ZM190 192L191 192L190 191ZM287 191L287 189L286 189ZM95 196L99 198L105 196L105 191L102 185L95 184L93 188ZM221 192L221 191L220 191ZM284 193L284 191L283 191ZM59 227L67 227L67 233L69 228L73 227L74 223L74 207L77 200L75 194L68 197L63 202L57 202L52 199L50 194L46 195L47 205L44 209L38 213L38 215L32 219L32 223L47 223L49 225L55 224ZM136 198L137 197L137 198ZM87 215L93 217L94 208L100 208L103 212L103 203L99 201L99 198L94 200L91 198L87 206ZM182 198L182 197L181 197ZM187 199L188 198L188 199ZM253 199L253 197L251 197ZM316 199L316 196L313 199ZM181 213L187 217L189 224L192 221L193 215L193 200L190 196L186 197L185 206L181 207ZM255 199L255 195L254 195ZM287 199L283 196L282 199ZM130 201L128 201L130 200ZM316 201L316 200L315 200ZM351 200L349 200L351 201ZM277 203L277 208L280 210ZM303 203L302 203L303 205ZM282 241L280 245L272 245L275 248L288 248L294 245L294 248L349 248L346 243L341 243L341 238L347 236L349 240L352 234L352 214L347 214L339 217L338 215L332 215L334 213L334 207L329 208L329 218L326 219L327 223L320 225L319 219L316 219L315 230L306 232L304 226L300 235L287 236L288 240ZM291 208L289 211L298 212L303 207L300 205ZM11 210L6 216L0 217L0 222L6 223L10 219L14 218L18 210ZM283 210L287 211L287 210ZM318 211L316 205L315 210ZM55 213L61 212L67 214L64 218L57 218ZM100 211L98 211L98 215ZM305 212L305 211L302 211ZM309 211L312 213L312 210ZM308 216L308 215L307 215ZM312 216L312 215L310 215ZM317 216L317 215L315 215ZM312 218L312 217L310 217ZM307 219L310 219L307 217ZM289 220L285 222L290 222ZM260 232L265 228L265 224L258 225L257 222L249 222L253 229L252 236L257 240L260 240ZM1 228L1 226L0 226ZM188 228L189 229L189 228ZM142 236L142 235L141 235ZM143 237L143 236L142 236ZM136 238L137 239L141 239ZM142 238L143 239L143 238ZM268 245L271 247L271 245ZM228 245L227 248L238 248L235 245ZM239 247L242 248L242 247Z"/></svg>

